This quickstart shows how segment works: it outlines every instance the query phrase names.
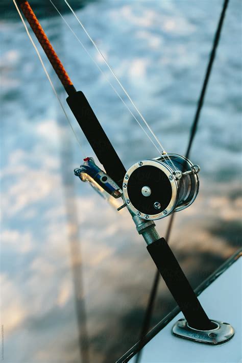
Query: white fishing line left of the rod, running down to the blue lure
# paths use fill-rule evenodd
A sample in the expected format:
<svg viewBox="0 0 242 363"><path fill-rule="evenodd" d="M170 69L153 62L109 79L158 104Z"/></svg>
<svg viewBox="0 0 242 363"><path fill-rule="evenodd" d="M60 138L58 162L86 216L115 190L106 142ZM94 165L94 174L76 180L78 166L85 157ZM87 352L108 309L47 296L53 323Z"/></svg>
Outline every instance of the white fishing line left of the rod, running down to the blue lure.
<svg viewBox="0 0 242 363"><path fill-rule="evenodd" d="M76 137L76 140L77 140L77 142L78 142L78 144L79 144L79 146L80 146L81 152L82 152L82 154L83 154L83 156L84 156L84 158L85 158L85 157L86 157L85 151L84 151L84 149L83 149L83 147L82 147L82 145L81 145L81 143L80 143L80 141L79 141L79 139L78 139L78 137L77 137L77 134L76 134L76 132L75 132L74 128L72 127L72 125L71 125L71 123L70 123L70 119L69 119L69 117L68 117L67 113L65 112L64 106L62 105L62 102L61 102L61 100L60 100L60 98L59 98L59 96L58 96L58 93L57 93L57 91L56 91L56 89L55 89L55 86L54 86L54 84L53 84L52 80L51 80L51 77L50 77L50 75L49 75L49 73L48 73L47 69L45 68L45 65L44 65L44 63L43 63L42 57L41 57L41 55L40 55L40 53L39 53L39 51L38 51L38 49L37 49L37 46L35 45L35 42L34 42L34 40L33 40L32 36L31 36L31 34L30 34L30 32L29 32L28 28L27 28L26 22L25 22L25 20L23 19L22 14L20 13L20 10L19 10L19 8L18 8L18 6L17 6L17 4L16 4L16 1L15 1L15 0L13 0L13 3L14 3L14 5L15 5L15 8L16 8L16 10L17 10L17 12L18 12L18 15L19 15L19 17L20 17L20 19L21 19L21 21L22 21L22 23L23 23L23 26L25 27L25 30L26 30L26 32L27 32L27 35L28 35L28 37L29 37L29 39L30 39L30 41L31 41L31 43L32 43L32 45L33 45L33 47L34 47L34 49L35 49L35 52L37 53L37 56L38 56L38 58L39 58L39 60L40 60L40 63L41 63L41 65L42 65L42 67L43 67L43 70L44 70L44 72L45 72L45 75L46 75L47 79L49 80L49 82L50 82L50 84L51 84L51 87L52 87L52 89L53 89L53 91L54 91L54 93L55 93L55 95L56 95L56 98L57 98L57 100L58 100L58 102L59 102L59 104L60 104L60 106L61 106L61 108L62 108L62 111L64 112L64 115L65 115L65 117L66 117L66 119L67 119L67 121L68 121L68 123L69 123L69 126L70 126L70 128L71 128L72 132L74 133L74 135L75 135L75 137Z"/></svg>

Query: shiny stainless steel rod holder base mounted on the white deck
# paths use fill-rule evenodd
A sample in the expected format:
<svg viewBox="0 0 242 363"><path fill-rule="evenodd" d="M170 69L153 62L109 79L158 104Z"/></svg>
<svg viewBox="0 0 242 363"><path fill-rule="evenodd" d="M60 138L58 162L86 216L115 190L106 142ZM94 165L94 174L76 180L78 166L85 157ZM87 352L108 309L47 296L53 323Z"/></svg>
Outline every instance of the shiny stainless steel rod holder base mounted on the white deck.
<svg viewBox="0 0 242 363"><path fill-rule="evenodd" d="M185 319L179 319L172 328L172 333L178 337L205 344L222 344L234 335L233 327L218 320L211 320L215 327L211 330L197 330L191 328Z"/></svg>

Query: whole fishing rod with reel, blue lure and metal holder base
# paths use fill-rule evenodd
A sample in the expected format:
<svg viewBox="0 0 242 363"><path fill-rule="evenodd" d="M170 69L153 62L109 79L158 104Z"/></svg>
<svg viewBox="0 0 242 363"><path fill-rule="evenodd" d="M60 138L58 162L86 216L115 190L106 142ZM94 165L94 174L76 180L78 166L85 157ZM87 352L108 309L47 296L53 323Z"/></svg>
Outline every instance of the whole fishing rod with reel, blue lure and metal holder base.
<svg viewBox="0 0 242 363"><path fill-rule="evenodd" d="M13 2L25 25L16 0ZM65 2L68 5L67 0ZM195 201L199 191L200 167L193 164L187 157L166 153L148 125L149 131L161 147L160 155L153 159L138 160L126 171L85 95L77 91L71 82L29 2L18 0L17 3L67 92L67 104L104 169L96 165L93 157L85 157L84 163L76 168L74 173L107 200L120 199L122 205L117 210L127 208L130 212L137 232L146 241L148 252L184 314L185 319L179 320L174 325L173 333L208 344L228 341L234 335L234 329L230 324L208 318L175 255L165 238L159 236L154 223L156 220L187 208ZM27 27L26 30L28 33ZM90 38L89 35L88 37ZM33 42L31 36L30 39ZM92 43L94 44L93 41ZM99 51L96 45L95 47ZM100 51L99 53L102 55ZM41 60L38 51L37 54ZM109 65L108 67L118 81L111 67ZM51 82L50 79L49 81ZM119 81L118 83L120 84ZM128 92L122 84L120 85L144 124L147 125Z"/></svg>

